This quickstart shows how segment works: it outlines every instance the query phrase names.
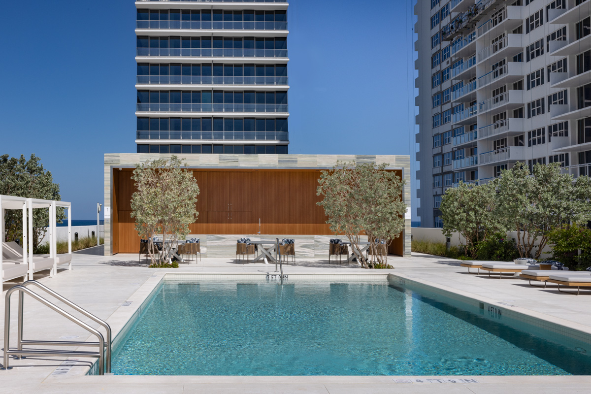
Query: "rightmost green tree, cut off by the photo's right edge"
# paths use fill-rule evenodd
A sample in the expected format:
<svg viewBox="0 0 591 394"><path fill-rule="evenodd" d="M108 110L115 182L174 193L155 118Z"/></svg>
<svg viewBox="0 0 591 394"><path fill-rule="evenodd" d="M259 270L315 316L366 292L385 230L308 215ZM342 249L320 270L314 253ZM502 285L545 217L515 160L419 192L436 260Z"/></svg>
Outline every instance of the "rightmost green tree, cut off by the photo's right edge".
<svg viewBox="0 0 591 394"><path fill-rule="evenodd" d="M509 229L517 231L522 257L539 259L550 232L564 223L591 220L589 177L573 182L570 174L561 172L559 163L535 164L530 174L524 163L517 162L502 171L496 186L502 217Z"/></svg>

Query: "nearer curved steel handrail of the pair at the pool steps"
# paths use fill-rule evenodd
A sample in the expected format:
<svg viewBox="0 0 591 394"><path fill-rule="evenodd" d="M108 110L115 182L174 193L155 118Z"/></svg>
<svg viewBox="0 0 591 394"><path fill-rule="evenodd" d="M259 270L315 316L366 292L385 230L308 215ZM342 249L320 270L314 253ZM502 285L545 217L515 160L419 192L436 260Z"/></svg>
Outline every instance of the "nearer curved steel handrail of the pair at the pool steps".
<svg viewBox="0 0 591 394"><path fill-rule="evenodd" d="M40 295L38 295L34 291L31 291L31 289L28 289L22 285L12 286L10 289L8 289L8 291L6 293L6 297L5 297L5 305L4 305L4 367L2 369L9 369L9 366L8 366L9 354L18 354L18 350L11 351L10 347L9 347L9 344L10 344L10 298L15 291L18 291L21 294L26 293L26 294L30 295L31 297L33 297L37 301L41 302L41 304L45 305L46 307L50 308L51 310L58 312L63 317L66 317L68 320L70 320L73 323L84 328L86 331L89 331L89 333L94 334L98 338L98 343L99 343L99 352L98 352L99 353L99 375L104 374L105 338L103 337L103 334L101 334L99 330L96 330L96 328L90 327L90 325L84 323L79 318L74 317L73 315L64 311L63 309L61 309L57 305L51 304L51 302L47 301L47 299L41 297ZM46 354L48 354L48 353L50 353L50 351L46 352Z"/></svg>

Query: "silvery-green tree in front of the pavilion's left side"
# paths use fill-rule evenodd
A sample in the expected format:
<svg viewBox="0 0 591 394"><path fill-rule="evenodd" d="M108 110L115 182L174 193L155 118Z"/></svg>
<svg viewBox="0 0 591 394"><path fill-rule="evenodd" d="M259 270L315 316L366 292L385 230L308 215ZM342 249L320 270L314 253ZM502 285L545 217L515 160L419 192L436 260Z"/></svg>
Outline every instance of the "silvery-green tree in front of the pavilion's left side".
<svg viewBox="0 0 591 394"><path fill-rule="evenodd" d="M131 217L135 230L148 239L152 265L155 258L154 236L162 234L160 263L170 263L171 248L189 235L189 224L197 220L199 186L186 164L173 155L170 160L156 159L136 164L132 180L137 190L131 198Z"/></svg>

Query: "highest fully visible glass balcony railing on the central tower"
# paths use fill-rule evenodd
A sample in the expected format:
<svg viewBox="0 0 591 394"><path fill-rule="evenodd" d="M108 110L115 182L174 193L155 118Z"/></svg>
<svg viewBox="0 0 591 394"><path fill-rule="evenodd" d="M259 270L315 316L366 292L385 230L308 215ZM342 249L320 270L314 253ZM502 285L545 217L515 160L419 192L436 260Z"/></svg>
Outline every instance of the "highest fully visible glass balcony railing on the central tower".
<svg viewBox="0 0 591 394"><path fill-rule="evenodd" d="M287 22L255 21L135 21L137 29L287 30Z"/></svg>

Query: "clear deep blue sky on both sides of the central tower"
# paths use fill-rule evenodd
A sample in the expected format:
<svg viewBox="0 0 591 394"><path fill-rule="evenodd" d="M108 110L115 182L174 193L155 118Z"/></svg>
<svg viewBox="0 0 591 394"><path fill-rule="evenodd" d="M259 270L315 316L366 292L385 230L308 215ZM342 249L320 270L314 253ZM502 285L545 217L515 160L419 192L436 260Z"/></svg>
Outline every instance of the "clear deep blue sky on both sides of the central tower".
<svg viewBox="0 0 591 394"><path fill-rule="evenodd" d="M414 157L411 14L411 0L290 1L290 153ZM0 154L41 157L73 219L104 200L103 154L135 152L134 28L132 0L2 4Z"/></svg>

